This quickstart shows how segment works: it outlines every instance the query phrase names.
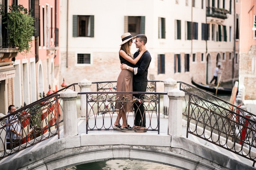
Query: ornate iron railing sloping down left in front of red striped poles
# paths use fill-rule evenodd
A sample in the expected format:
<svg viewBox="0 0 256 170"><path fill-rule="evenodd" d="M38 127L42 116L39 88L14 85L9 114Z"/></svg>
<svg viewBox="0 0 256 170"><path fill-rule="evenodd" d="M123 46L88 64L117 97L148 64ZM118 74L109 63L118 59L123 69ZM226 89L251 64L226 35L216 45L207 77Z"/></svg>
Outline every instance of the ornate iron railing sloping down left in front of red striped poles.
<svg viewBox="0 0 256 170"><path fill-rule="evenodd" d="M58 93L67 88L75 90L75 85L71 84L0 118L0 159L55 135L59 138L63 109ZM20 135L10 132L11 129Z"/></svg>

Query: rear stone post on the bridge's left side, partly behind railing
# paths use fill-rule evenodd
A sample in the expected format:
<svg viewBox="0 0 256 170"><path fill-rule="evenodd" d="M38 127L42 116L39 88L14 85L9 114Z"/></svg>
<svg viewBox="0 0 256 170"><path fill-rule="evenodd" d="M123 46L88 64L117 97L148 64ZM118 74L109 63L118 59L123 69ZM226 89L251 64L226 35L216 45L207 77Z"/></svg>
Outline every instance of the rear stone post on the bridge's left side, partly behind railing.
<svg viewBox="0 0 256 170"><path fill-rule="evenodd" d="M78 85L80 87L80 92L91 91L92 82L87 79L83 79ZM81 95L81 117L86 117L86 95Z"/></svg>

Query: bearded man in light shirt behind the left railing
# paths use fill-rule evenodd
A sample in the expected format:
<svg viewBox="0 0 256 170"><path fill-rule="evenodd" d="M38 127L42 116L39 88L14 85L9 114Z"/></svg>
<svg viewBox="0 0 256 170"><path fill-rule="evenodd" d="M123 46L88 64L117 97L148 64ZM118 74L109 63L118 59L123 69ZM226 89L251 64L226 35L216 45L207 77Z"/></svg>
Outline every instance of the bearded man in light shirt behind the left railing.
<svg viewBox="0 0 256 170"><path fill-rule="evenodd" d="M8 107L7 115L12 114L15 111L16 111L16 107L14 105L10 105ZM15 141L22 139L21 124L20 124L20 121L18 120L17 115L9 116L7 118L6 124L7 124L7 128L6 128L7 148L11 147L9 146L10 144L14 145L12 146L14 148L16 147Z"/></svg>

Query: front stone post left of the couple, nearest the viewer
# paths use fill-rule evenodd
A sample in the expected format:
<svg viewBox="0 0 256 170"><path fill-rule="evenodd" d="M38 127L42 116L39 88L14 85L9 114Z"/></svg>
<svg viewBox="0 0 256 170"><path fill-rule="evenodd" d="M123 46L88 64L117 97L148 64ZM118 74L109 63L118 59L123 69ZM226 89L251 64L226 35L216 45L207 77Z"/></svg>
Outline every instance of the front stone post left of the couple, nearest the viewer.
<svg viewBox="0 0 256 170"><path fill-rule="evenodd" d="M76 98L77 92L67 89L60 93L63 100L63 130L64 137L78 135Z"/></svg>

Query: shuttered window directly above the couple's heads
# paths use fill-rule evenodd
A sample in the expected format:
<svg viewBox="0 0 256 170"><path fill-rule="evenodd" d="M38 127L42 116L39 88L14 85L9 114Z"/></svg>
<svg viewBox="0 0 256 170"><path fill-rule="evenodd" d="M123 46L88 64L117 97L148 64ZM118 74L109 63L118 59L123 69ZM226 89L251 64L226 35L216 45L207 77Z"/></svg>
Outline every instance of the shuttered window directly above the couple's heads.
<svg viewBox="0 0 256 170"><path fill-rule="evenodd" d="M124 32L145 34L145 16L124 16Z"/></svg>

